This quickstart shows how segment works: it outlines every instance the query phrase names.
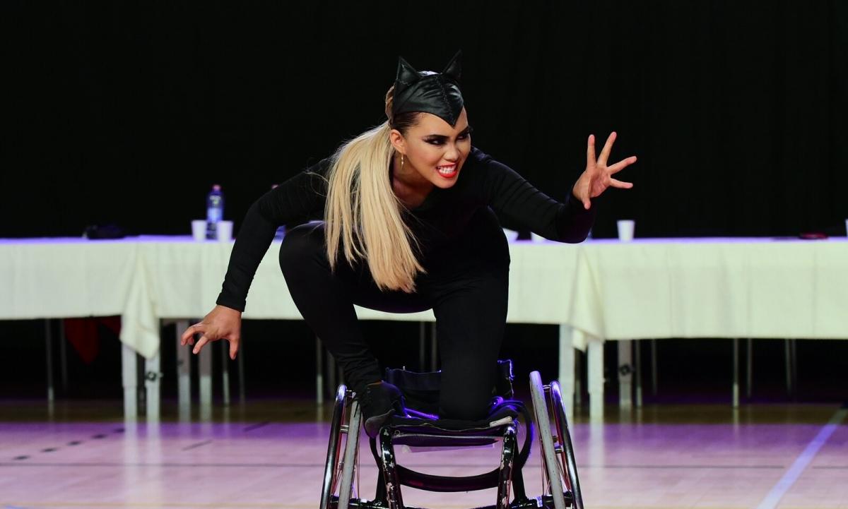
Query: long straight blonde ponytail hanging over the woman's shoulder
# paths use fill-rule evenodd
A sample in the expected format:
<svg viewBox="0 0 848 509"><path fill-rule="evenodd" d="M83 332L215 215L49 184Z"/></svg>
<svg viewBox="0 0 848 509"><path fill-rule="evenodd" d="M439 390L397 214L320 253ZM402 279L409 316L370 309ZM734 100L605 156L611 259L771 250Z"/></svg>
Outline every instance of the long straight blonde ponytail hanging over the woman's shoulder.
<svg viewBox="0 0 848 509"><path fill-rule="evenodd" d="M411 293L416 275L425 271L413 249L418 241L404 223L405 208L389 179L394 156L389 133L403 133L417 114L393 119L393 89L386 93L388 120L347 141L332 157L324 208L326 255L335 270L341 249L350 265L357 260L368 264L380 290Z"/></svg>

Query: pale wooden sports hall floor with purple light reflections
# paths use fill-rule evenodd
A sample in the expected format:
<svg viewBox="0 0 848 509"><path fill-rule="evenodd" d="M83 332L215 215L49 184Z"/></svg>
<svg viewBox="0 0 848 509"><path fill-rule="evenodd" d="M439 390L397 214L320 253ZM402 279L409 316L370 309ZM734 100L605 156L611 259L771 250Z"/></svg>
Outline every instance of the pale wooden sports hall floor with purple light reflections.
<svg viewBox="0 0 848 509"><path fill-rule="evenodd" d="M0 507L315 509L326 408L309 401L216 407L200 422L124 423L120 402L0 401ZM572 429L589 509L848 508L848 410L834 405L656 406ZM165 416L176 416L165 407ZM521 437L520 437L521 438ZM534 446L536 446L534 444ZM363 449L366 453L367 449ZM541 490L538 451L525 468ZM399 463L440 474L494 468L499 450L398 451ZM362 456L362 496L377 470ZM494 490L432 494L412 506L494 503Z"/></svg>

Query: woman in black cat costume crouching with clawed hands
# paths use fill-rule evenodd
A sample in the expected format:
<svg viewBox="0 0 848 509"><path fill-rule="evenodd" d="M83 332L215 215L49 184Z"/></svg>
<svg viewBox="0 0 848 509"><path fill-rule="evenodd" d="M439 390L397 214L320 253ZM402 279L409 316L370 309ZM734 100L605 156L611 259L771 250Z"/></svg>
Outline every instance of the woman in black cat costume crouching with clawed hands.
<svg viewBox="0 0 848 509"><path fill-rule="evenodd" d="M616 133L587 166L566 202L556 202L504 164L471 147L459 88L460 53L442 73L399 59L386 95L388 120L287 180L249 208L233 246L217 306L182 336L198 353L209 341L238 351L248 288L277 227L288 230L280 267L298 310L343 368L360 399L365 430L377 434L403 412L399 390L382 382L354 304L393 313L432 309L442 364L443 417L488 412L506 321L509 248L495 213L554 241L581 242L594 219L590 200L630 188L607 166ZM493 212L494 209L494 212ZM323 219L321 224L303 224Z"/></svg>

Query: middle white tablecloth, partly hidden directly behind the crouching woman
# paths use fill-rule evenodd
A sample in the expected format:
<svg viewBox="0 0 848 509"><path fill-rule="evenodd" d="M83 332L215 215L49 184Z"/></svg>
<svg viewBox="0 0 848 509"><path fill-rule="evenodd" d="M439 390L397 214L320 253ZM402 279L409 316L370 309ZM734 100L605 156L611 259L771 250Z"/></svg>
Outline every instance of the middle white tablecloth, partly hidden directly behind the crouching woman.
<svg viewBox="0 0 848 509"><path fill-rule="evenodd" d="M193 242L183 238L144 237L138 242L145 261L145 283L137 285L149 309L133 307L136 331L123 330L121 340L142 355L155 353L159 318L203 317L215 306L226 274L232 243ZM271 243L250 286L243 318L300 319L277 262L280 241ZM571 308L577 246L556 243L510 245L510 302L507 320L515 323L561 324ZM543 294L539 288L547 287ZM360 319L432 321L432 312L382 313L356 307ZM149 325L149 326L148 326ZM158 331L158 329L155 329Z"/></svg>

